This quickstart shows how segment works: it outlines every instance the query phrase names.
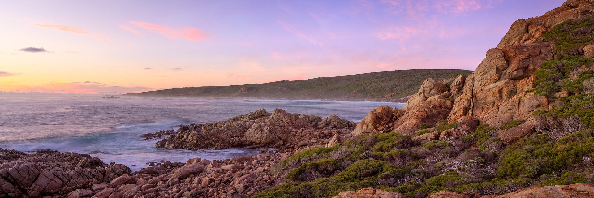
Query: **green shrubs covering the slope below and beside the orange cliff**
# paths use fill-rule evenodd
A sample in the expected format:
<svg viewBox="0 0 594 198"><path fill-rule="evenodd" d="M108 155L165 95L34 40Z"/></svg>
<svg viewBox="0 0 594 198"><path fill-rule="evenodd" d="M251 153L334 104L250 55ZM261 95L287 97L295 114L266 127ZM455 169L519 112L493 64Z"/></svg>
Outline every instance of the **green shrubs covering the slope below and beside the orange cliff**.
<svg viewBox="0 0 594 198"><path fill-rule="evenodd" d="M594 17L567 20L535 44L554 43L550 57L555 59L539 62L542 69L523 79L531 84L523 87L532 89L508 97L519 106L536 106L529 111L530 119L475 125L471 130L467 122L423 122L416 125L418 131L407 133L415 138L398 131L376 131L333 147L305 150L277 165L274 174L286 175L286 184L254 197L333 197L365 187L428 197L443 190L501 194L530 186L594 184L594 61L584 56L584 46L593 42L592 30ZM511 80L520 87L520 80ZM488 89L475 87L473 94ZM542 98L545 101L539 102ZM538 108L542 104L548 106ZM370 118L383 118L381 111L372 112ZM396 120L408 112L394 111L380 120ZM392 123L399 122L388 125ZM448 136L456 130L466 131L459 137ZM529 133L517 132L523 130ZM441 136L433 138L432 133ZM506 133L522 135L504 140Z"/></svg>

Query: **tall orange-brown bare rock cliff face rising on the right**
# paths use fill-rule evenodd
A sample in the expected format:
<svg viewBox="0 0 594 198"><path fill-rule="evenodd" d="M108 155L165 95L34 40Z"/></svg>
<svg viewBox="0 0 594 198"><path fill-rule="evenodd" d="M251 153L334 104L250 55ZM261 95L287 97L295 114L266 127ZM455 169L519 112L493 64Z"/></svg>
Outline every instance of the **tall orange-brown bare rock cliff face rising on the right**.
<svg viewBox="0 0 594 198"><path fill-rule="evenodd" d="M497 48L489 49L485 59L468 76L457 77L449 88L428 78L403 108L393 109L389 115L383 108L374 109L352 134L386 132L389 128L394 133L414 136L422 124L442 120L459 123L476 120L491 127L517 120L523 123L519 127L521 134L502 131L502 139L513 141L530 134L536 125L533 112L552 109L555 101L535 95L534 82L538 80L535 71L559 53L554 43L543 36L563 21L592 15L592 3L592 0L571 0L541 17L517 20ZM585 51L590 50L589 46L586 48ZM584 52L583 46L578 50ZM390 118L378 121L380 114Z"/></svg>

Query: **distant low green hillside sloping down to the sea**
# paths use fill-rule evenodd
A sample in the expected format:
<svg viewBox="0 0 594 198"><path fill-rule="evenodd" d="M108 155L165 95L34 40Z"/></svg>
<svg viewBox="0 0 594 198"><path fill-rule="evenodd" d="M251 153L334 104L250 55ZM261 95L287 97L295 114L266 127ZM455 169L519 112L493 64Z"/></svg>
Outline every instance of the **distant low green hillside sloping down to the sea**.
<svg viewBox="0 0 594 198"><path fill-rule="evenodd" d="M340 99L396 100L417 92L425 78L456 77L469 70L396 70L350 76L275 81L263 84L183 87L124 96L266 98L266 99ZM387 97L390 93L389 97Z"/></svg>

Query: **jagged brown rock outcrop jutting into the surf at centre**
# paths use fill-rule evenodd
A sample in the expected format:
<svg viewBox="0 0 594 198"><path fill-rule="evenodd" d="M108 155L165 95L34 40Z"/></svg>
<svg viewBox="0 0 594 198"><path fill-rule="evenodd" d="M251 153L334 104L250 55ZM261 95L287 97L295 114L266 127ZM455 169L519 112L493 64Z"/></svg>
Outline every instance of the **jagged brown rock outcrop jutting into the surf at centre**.
<svg viewBox="0 0 594 198"><path fill-rule="evenodd" d="M192 124L181 127L156 143L165 149L226 149L262 144L267 147L308 146L327 144L339 130L355 127L355 122L341 120L336 115L322 119L315 115L290 114L283 109L272 113L265 109L229 118L212 124ZM159 133L170 133L160 131ZM157 135L149 135L158 137ZM290 145L290 146L289 146Z"/></svg>

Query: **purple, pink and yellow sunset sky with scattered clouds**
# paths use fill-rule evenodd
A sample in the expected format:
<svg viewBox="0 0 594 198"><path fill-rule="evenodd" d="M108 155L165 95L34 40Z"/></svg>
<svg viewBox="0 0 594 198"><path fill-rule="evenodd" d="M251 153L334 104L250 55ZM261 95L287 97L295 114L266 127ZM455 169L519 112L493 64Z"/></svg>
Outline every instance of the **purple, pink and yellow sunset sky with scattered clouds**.
<svg viewBox="0 0 594 198"><path fill-rule="evenodd" d="M0 0L0 94L474 70L560 0Z"/></svg>

